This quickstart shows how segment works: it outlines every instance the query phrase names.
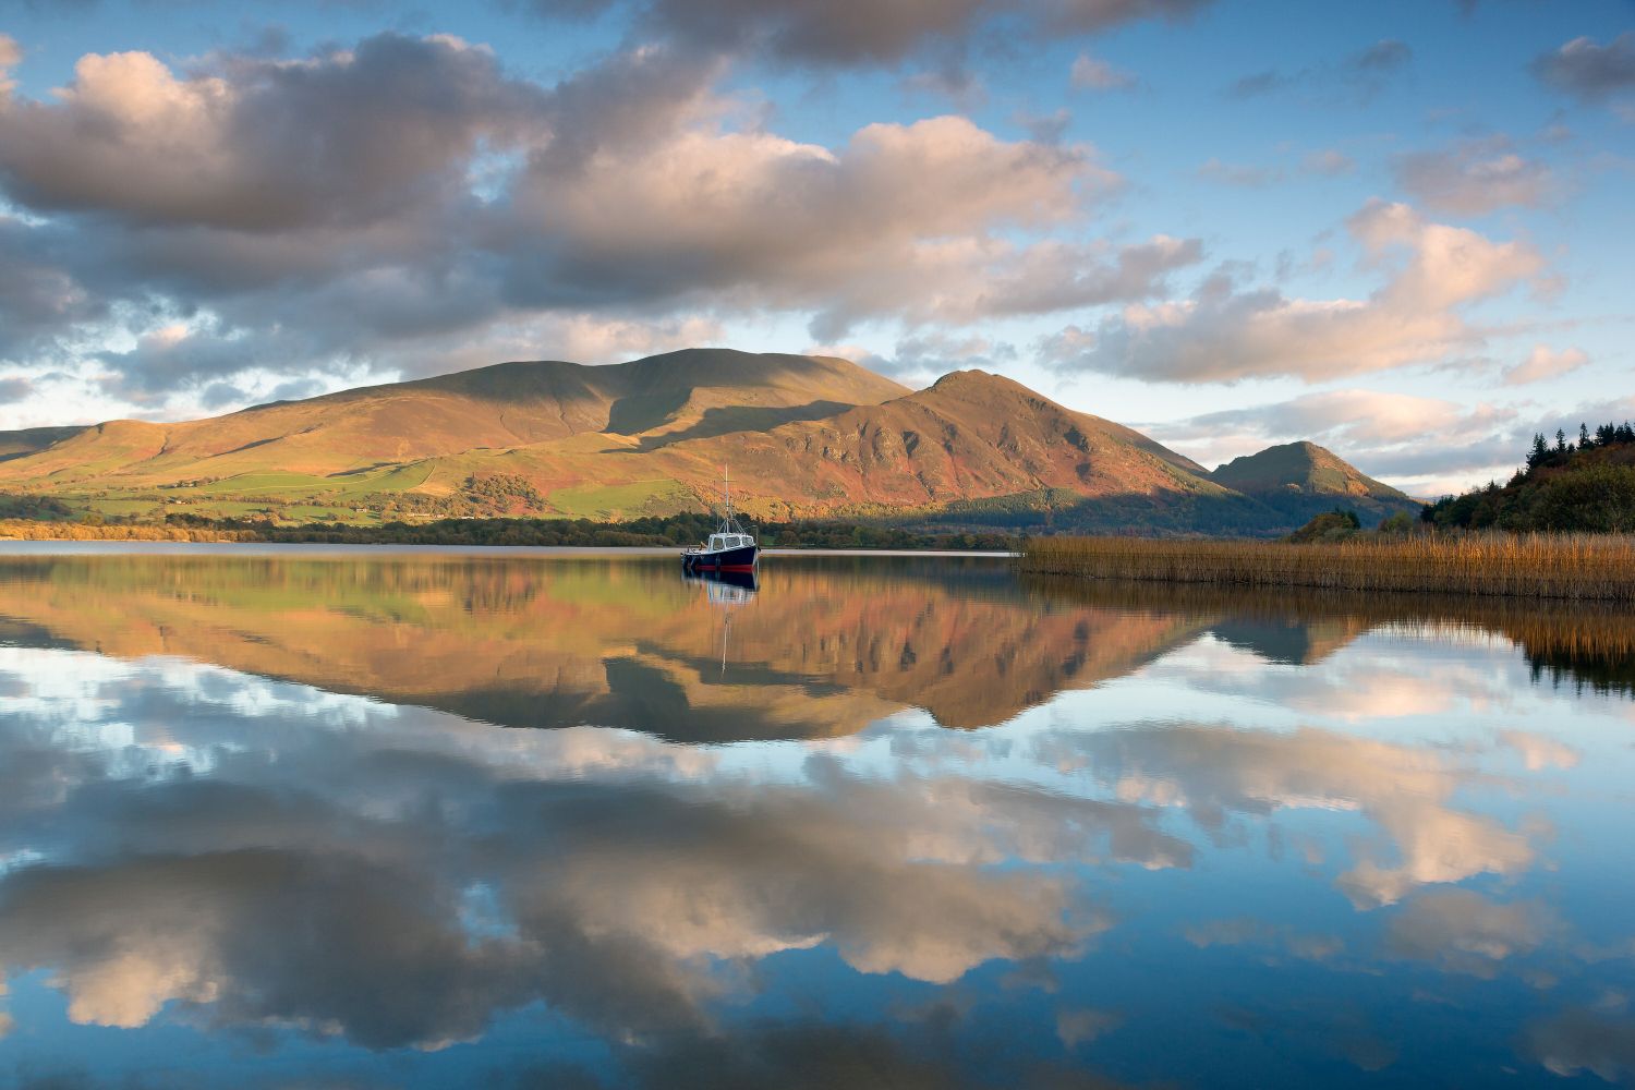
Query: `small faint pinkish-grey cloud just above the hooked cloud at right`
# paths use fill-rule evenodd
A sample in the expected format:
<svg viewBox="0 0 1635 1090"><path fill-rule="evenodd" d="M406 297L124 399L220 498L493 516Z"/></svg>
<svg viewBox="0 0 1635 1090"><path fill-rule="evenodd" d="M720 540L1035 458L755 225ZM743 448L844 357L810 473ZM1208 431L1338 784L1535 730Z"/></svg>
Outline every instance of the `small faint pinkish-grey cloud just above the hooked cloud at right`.
<svg viewBox="0 0 1635 1090"><path fill-rule="evenodd" d="M1398 155L1396 183L1421 204L1454 216L1485 216L1501 208L1537 208L1552 199L1555 175L1517 155L1507 137L1460 141L1454 147Z"/></svg>

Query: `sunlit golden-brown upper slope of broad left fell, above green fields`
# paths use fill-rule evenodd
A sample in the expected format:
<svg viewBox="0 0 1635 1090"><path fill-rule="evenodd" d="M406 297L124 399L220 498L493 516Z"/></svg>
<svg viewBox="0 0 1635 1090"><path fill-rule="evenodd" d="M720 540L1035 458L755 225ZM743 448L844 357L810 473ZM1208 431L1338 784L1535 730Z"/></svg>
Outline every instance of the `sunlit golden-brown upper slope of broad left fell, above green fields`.
<svg viewBox="0 0 1635 1090"><path fill-rule="evenodd" d="M116 420L15 459L0 480L141 487L267 471L332 476L602 431L646 433L657 446L687 433L831 415L904 392L845 360L724 348L610 366L502 363L209 420Z"/></svg>

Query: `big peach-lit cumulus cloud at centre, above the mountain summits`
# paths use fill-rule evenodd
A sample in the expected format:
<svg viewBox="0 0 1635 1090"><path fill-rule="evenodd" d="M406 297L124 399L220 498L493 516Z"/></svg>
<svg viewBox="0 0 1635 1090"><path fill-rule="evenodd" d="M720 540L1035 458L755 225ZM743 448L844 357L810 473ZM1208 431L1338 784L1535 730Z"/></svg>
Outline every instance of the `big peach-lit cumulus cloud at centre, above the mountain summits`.
<svg viewBox="0 0 1635 1090"><path fill-rule="evenodd" d="M1071 222L1117 178L1089 149L1006 142L956 116L871 124L839 149L765 132L680 131L564 178L540 155L507 212L507 294L523 306L716 294L860 317L976 320L1154 291L1195 243L1017 243L996 229ZM522 248L518 245L518 248ZM1063 281L1063 278L1066 278Z"/></svg>

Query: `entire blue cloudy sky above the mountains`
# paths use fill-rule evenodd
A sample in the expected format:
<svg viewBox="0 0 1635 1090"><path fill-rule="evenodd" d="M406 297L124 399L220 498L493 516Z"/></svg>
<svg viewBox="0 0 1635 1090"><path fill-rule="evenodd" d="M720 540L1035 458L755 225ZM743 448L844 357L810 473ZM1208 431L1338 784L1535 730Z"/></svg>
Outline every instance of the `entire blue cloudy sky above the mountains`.
<svg viewBox="0 0 1635 1090"><path fill-rule="evenodd" d="M1416 495L1635 418L1630 0L0 0L0 428L981 368Z"/></svg>

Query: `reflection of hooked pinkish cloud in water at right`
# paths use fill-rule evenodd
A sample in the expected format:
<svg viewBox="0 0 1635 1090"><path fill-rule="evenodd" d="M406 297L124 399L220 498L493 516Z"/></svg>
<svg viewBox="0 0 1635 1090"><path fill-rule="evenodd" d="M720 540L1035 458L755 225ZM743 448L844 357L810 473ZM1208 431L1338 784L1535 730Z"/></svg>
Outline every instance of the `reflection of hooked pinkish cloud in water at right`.
<svg viewBox="0 0 1635 1090"><path fill-rule="evenodd" d="M1339 887L1359 907L1400 900L1418 886L1481 873L1512 874L1532 847L1493 819L1447 807L1470 776L1447 753L1303 727L1293 734L1230 727L1131 727L1046 735L1037 755L1081 750L1118 797L1187 809L1208 827L1223 812L1355 809L1396 847L1395 861L1360 858Z"/></svg>

